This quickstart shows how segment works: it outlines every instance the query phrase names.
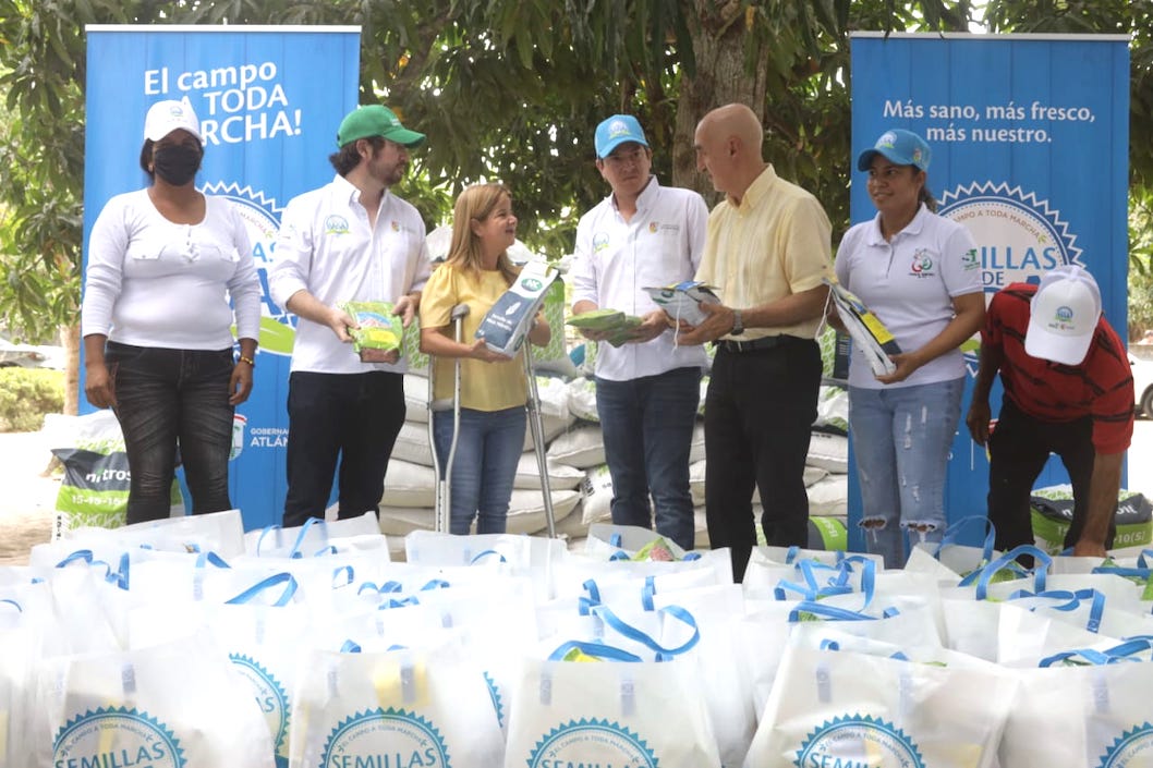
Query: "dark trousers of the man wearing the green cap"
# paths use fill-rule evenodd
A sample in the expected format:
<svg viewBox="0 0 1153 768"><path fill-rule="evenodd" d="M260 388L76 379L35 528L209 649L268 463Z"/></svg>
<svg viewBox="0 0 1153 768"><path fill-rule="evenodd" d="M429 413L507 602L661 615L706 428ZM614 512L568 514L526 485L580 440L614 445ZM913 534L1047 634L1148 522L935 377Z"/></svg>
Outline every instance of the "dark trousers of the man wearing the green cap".
<svg viewBox="0 0 1153 768"><path fill-rule="evenodd" d="M285 527L324 518L334 476L340 519L379 512L384 473L404 423L402 374L293 371Z"/></svg>

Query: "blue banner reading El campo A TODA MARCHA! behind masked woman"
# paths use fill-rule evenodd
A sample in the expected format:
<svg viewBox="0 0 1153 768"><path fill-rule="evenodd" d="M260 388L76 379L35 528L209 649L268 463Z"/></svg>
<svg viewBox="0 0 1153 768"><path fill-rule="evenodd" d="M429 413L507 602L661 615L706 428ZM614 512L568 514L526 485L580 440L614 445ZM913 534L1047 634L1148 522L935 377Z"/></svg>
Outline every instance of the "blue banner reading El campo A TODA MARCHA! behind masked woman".
<svg viewBox="0 0 1153 768"><path fill-rule="evenodd" d="M187 96L206 142L197 186L239 206L264 289L253 396L234 424L229 494L246 528L279 522L295 319L269 298L267 268L285 203L332 179L337 126L356 106L360 28L92 25L86 32L85 263L88 235L108 198L148 186L137 160L149 106ZM81 404L91 411L83 397Z"/></svg>

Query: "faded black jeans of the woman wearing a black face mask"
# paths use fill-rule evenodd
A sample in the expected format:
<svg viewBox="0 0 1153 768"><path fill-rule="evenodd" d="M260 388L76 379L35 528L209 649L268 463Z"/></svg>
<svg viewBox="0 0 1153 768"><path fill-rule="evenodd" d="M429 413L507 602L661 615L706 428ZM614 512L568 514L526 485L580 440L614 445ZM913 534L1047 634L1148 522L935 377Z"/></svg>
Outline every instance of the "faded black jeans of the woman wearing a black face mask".
<svg viewBox="0 0 1153 768"><path fill-rule="evenodd" d="M108 341L104 360L115 386L114 411L131 472L128 522L168 517L178 445L193 514L232 509L232 349L165 349Z"/></svg>

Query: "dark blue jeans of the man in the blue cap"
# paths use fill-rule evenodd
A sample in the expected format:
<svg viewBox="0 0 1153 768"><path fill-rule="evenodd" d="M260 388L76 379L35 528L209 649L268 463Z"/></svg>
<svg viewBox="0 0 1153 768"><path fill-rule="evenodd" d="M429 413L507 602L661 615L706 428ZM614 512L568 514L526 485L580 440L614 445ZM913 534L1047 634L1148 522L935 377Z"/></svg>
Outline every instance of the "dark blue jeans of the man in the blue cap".
<svg viewBox="0 0 1153 768"><path fill-rule="evenodd" d="M604 453L612 477L612 522L653 527L693 549L688 451L701 400L701 369L675 368L627 382L596 379Z"/></svg>

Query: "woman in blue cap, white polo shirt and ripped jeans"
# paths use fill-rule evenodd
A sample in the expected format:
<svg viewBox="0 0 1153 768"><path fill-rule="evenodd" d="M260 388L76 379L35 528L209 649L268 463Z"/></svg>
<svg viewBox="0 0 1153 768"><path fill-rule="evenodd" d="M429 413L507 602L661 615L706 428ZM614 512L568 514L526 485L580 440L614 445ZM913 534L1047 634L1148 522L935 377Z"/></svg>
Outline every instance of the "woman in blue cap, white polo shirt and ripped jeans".
<svg viewBox="0 0 1153 768"><path fill-rule="evenodd" d="M876 216L845 233L837 280L857 294L900 347L896 370L875 376L860 351L849 368L849 426L871 552L907 558L904 532L936 542L944 477L965 385L960 345L985 318L981 259L964 226L935 213L926 186L928 144L887 130L857 159Z"/></svg>

